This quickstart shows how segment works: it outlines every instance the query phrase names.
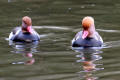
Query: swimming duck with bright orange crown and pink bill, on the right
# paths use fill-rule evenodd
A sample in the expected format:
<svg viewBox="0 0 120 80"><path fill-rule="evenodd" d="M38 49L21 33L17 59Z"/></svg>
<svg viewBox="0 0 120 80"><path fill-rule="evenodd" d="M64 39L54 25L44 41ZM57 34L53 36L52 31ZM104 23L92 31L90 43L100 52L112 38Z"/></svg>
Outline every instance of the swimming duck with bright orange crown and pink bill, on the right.
<svg viewBox="0 0 120 80"><path fill-rule="evenodd" d="M82 31L72 39L72 47L101 47L103 39L95 30L94 18L86 16L82 20Z"/></svg>

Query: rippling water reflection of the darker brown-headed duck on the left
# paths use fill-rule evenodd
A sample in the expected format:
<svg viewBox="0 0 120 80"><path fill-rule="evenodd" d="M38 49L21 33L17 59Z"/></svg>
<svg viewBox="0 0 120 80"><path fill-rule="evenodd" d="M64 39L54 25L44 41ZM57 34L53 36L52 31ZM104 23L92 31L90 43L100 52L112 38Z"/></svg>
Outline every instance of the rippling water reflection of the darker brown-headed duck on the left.
<svg viewBox="0 0 120 80"><path fill-rule="evenodd" d="M36 48L38 43L9 43L13 47L12 53L22 54L25 61L15 61L12 64L25 64L32 65L35 63L33 53L37 52Z"/></svg>

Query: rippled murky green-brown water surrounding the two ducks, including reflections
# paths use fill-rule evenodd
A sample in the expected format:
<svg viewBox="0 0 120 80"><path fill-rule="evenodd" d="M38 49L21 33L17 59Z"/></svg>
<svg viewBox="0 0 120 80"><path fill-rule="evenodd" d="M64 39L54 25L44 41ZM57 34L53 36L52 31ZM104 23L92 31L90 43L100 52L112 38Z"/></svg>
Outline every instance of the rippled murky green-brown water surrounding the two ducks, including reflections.
<svg viewBox="0 0 120 80"><path fill-rule="evenodd" d="M119 0L0 0L0 80L119 80ZM9 45L30 16L39 44ZM72 49L84 16L95 18L102 49Z"/></svg>

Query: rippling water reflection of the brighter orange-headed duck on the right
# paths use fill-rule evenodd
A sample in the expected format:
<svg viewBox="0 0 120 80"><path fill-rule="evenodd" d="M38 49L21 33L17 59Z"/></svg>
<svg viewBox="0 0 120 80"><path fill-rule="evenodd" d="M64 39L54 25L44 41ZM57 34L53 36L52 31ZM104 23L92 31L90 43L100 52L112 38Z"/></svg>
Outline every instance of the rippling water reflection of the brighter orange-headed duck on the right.
<svg viewBox="0 0 120 80"><path fill-rule="evenodd" d="M102 51L100 51L100 49L92 48L74 50L80 53L79 55L76 55L77 58L80 58L76 62L82 63L83 67L83 71L80 71L79 75L85 73L84 76L81 76L82 78L85 78L85 80L97 80L98 77L94 77L93 73L104 68L97 68L98 65L102 64L97 64L95 61L102 59L102 56L99 55Z"/></svg>

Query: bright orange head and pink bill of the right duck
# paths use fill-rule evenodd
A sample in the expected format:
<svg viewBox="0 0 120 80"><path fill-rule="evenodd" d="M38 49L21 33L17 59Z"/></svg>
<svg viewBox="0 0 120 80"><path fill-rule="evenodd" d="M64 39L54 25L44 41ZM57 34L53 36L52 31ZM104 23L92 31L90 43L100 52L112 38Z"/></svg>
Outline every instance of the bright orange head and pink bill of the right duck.
<svg viewBox="0 0 120 80"><path fill-rule="evenodd" d="M82 20L83 34L82 38L85 39L90 34L90 27L94 26L94 19L90 16L84 17Z"/></svg>

